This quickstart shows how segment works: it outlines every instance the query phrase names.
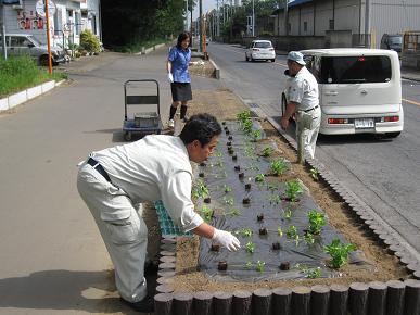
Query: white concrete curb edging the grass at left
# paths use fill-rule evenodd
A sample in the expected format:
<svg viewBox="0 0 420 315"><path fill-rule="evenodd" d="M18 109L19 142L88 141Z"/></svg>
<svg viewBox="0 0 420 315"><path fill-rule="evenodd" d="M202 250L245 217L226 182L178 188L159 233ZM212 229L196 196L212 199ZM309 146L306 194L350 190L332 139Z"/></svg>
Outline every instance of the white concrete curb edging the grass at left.
<svg viewBox="0 0 420 315"><path fill-rule="evenodd" d="M53 88L61 86L65 80L49 80L38 86L27 88L17 93L0 99L0 113L12 110L13 108L21 105L36 97L39 97Z"/></svg>

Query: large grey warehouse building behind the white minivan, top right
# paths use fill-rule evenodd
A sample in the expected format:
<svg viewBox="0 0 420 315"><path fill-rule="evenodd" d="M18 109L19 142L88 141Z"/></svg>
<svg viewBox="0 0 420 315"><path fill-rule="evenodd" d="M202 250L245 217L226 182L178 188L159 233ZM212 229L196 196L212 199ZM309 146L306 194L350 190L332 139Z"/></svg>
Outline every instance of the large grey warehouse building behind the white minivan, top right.
<svg viewBox="0 0 420 315"><path fill-rule="evenodd" d="M289 0L287 11L288 23L284 5L275 12L276 35L335 34L353 46L368 35L370 46L378 48L383 34L420 29L420 0Z"/></svg>

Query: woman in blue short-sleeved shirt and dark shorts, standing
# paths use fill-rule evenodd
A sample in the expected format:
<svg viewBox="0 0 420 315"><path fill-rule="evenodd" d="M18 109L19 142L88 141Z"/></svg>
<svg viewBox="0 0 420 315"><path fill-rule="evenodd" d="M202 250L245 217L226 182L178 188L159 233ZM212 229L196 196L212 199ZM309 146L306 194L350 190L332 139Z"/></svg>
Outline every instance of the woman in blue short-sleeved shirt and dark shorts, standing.
<svg viewBox="0 0 420 315"><path fill-rule="evenodd" d="M174 127L174 116L177 108L181 105L180 118L186 122L187 118L187 102L192 100L191 78L188 72L188 66L191 63L191 50L189 49L191 35L183 32L178 36L178 42L170 48L167 60L168 81L173 93L173 104L169 111L168 127Z"/></svg>

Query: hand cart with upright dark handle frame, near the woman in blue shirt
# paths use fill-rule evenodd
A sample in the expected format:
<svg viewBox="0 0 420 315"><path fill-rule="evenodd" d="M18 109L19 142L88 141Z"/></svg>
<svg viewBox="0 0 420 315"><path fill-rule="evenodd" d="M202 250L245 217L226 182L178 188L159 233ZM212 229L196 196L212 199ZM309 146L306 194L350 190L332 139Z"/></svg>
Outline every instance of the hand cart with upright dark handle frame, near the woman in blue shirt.
<svg viewBox="0 0 420 315"><path fill-rule="evenodd" d="M130 85L139 88L142 83L155 83L155 94L132 94L130 93ZM153 105L156 104L157 112L139 112L135 113L132 118L128 118L127 108L130 105ZM150 134L161 134L161 101L158 83L154 79L127 80L124 84L124 123L123 123L124 139L131 140L133 134L142 136Z"/></svg>

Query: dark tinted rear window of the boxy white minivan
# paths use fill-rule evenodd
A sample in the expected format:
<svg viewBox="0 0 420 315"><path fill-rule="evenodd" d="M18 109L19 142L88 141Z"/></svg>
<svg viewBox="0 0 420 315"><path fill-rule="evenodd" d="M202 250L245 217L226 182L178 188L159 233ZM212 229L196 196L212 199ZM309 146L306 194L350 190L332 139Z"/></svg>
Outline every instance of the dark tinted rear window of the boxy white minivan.
<svg viewBox="0 0 420 315"><path fill-rule="evenodd" d="M391 80L391 60L385 55L324 56L320 84L370 84Z"/></svg>

